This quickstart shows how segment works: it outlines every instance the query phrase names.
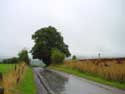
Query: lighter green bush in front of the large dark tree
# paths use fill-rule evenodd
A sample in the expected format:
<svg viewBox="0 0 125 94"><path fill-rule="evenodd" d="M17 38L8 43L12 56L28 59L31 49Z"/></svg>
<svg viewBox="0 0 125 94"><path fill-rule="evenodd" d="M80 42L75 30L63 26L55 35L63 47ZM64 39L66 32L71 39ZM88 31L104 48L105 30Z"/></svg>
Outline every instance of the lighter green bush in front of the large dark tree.
<svg viewBox="0 0 125 94"><path fill-rule="evenodd" d="M58 49L52 49L51 60L52 63L63 63L65 54L59 51Z"/></svg>

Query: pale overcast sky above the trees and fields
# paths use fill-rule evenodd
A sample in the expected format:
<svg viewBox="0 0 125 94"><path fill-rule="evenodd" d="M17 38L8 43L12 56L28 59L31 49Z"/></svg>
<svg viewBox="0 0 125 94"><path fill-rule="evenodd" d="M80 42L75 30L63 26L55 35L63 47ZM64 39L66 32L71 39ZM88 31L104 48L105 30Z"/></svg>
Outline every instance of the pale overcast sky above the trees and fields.
<svg viewBox="0 0 125 94"><path fill-rule="evenodd" d="M125 0L0 0L0 56L31 49L31 35L54 26L72 54L125 56Z"/></svg>

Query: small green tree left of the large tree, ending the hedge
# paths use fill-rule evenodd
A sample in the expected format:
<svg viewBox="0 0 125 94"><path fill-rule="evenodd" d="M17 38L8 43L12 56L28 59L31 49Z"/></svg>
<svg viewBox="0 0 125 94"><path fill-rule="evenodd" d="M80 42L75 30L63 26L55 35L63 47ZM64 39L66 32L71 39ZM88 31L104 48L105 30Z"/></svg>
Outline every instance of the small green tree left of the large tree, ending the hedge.
<svg viewBox="0 0 125 94"><path fill-rule="evenodd" d="M29 56L27 50L23 49L22 51L19 52L18 56L20 61L24 61L29 65Z"/></svg>

